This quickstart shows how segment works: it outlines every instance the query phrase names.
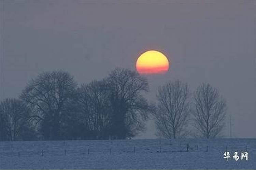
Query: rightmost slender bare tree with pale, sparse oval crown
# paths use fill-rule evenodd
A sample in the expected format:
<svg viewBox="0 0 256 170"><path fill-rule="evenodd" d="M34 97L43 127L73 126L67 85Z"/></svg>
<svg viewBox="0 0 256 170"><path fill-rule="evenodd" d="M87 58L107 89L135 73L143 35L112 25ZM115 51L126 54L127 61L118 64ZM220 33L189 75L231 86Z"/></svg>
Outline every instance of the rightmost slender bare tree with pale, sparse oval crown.
<svg viewBox="0 0 256 170"><path fill-rule="evenodd" d="M224 127L226 101L216 88L203 83L194 94L195 127L206 138L215 138Z"/></svg>

